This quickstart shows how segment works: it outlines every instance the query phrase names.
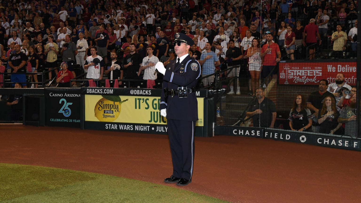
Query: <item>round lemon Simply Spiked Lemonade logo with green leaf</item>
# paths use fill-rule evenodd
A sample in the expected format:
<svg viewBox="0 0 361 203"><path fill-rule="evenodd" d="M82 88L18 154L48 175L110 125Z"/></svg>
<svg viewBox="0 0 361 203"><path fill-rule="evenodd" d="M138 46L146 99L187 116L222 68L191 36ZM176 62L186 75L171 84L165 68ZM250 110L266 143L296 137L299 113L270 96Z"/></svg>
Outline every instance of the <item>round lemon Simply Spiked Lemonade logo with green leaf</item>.
<svg viewBox="0 0 361 203"><path fill-rule="evenodd" d="M111 122L116 120L121 111L121 104L126 100L121 100L116 95L101 95L102 98L95 104L94 113L99 121Z"/></svg>

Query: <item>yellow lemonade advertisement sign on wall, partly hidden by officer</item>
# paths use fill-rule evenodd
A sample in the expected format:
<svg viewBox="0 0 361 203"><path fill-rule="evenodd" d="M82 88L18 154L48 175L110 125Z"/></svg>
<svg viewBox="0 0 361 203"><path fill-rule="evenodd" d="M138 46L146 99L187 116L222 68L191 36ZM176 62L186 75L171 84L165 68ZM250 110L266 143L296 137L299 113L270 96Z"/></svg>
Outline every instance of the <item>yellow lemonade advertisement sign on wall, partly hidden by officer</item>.
<svg viewBox="0 0 361 203"><path fill-rule="evenodd" d="M197 98L198 121L203 126L203 98ZM85 95L85 121L166 124L155 96Z"/></svg>

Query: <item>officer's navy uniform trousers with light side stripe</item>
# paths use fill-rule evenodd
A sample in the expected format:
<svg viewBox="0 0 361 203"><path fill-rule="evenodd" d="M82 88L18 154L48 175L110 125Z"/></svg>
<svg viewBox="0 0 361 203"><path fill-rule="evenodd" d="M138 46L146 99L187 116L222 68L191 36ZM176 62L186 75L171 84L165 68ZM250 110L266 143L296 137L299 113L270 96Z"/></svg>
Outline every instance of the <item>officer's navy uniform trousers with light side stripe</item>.
<svg viewBox="0 0 361 203"><path fill-rule="evenodd" d="M196 122L168 119L167 123L173 163L172 176L191 180Z"/></svg>

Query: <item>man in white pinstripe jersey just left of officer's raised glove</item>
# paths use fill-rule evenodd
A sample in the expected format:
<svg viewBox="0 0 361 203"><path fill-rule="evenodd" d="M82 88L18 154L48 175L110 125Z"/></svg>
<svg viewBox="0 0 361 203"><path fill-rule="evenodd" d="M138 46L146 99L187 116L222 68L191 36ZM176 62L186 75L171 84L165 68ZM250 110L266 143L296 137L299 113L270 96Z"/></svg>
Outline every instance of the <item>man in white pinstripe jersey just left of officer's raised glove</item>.
<svg viewBox="0 0 361 203"><path fill-rule="evenodd" d="M157 79L157 74L154 74L154 67L157 62L159 62L159 59L153 55L152 45L147 46L147 53L148 56L144 57L142 65L139 67L138 76L140 76L140 73L144 70L143 79L147 80L147 88L153 89L156 85L155 79Z"/></svg>

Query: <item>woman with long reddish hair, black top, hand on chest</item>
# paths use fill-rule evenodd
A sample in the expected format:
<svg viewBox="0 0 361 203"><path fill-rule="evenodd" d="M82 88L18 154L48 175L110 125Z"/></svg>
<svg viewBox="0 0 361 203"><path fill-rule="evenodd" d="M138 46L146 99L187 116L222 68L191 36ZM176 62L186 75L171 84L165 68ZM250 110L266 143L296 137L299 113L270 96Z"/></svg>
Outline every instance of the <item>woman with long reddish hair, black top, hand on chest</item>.
<svg viewBox="0 0 361 203"><path fill-rule="evenodd" d="M317 115L317 122L320 124L318 133L336 134L336 131L342 125L337 122L339 116L340 113L336 109L335 98L327 96Z"/></svg>

